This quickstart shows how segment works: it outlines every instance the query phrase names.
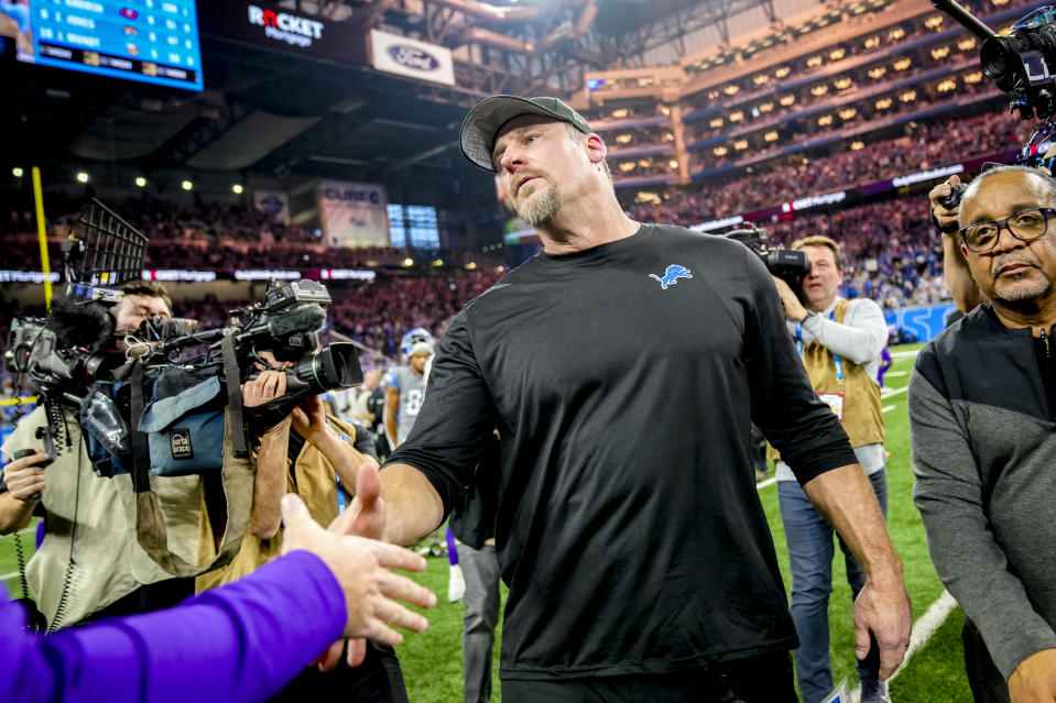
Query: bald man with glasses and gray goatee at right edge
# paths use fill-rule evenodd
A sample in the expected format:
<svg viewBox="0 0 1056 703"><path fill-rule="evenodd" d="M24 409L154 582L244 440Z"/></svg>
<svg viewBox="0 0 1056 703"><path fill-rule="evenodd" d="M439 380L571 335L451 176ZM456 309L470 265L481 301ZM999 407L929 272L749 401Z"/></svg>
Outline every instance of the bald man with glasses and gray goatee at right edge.
<svg viewBox="0 0 1056 703"><path fill-rule="evenodd" d="M1034 168L968 186L956 237L983 301L921 351L910 381L914 502L965 611L980 703L1056 700L1054 208L1056 180Z"/></svg>

